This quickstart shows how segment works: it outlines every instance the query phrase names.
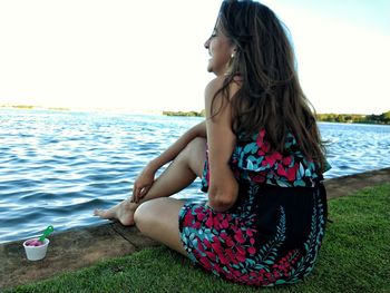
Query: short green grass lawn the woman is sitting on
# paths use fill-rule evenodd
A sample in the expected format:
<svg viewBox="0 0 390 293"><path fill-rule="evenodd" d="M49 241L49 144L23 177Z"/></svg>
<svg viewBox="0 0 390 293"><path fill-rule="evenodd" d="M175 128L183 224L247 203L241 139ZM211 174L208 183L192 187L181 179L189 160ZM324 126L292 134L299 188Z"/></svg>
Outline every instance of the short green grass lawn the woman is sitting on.
<svg viewBox="0 0 390 293"><path fill-rule="evenodd" d="M329 202L316 267L305 282L261 292L390 292L390 184ZM6 292L257 292L194 267L165 247Z"/></svg>

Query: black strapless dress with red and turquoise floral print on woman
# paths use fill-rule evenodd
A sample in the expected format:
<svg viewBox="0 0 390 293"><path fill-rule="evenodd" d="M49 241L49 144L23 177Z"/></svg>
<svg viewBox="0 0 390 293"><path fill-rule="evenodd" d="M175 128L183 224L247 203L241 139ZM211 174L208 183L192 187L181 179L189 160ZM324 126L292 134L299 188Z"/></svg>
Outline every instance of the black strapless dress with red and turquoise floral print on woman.
<svg viewBox="0 0 390 293"><path fill-rule="evenodd" d="M238 199L224 213L186 203L181 240L189 258L223 279L250 285L296 283L313 270L326 222L326 194L316 164L292 135L285 153L269 152L266 134L237 137L231 168ZM209 184L208 164L202 191Z"/></svg>

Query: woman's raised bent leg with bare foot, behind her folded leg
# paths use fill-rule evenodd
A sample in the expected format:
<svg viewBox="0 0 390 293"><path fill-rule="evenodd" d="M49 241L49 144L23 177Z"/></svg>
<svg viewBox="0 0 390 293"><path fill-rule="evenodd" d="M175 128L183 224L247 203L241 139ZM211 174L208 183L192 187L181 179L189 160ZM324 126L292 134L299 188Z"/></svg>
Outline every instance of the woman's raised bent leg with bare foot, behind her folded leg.
<svg viewBox="0 0 390 293"><path fill-rule="evenodd" d="M118 219L123 225L134 225L134 213L140 204L154 198L170 196L192 184L196 176L202 177L205 158L206 139L195 138L156 179L138 204L128 198L107 211L96 209L95 215L101 218ZM177 213L175 216L177 221Z"/></svg>

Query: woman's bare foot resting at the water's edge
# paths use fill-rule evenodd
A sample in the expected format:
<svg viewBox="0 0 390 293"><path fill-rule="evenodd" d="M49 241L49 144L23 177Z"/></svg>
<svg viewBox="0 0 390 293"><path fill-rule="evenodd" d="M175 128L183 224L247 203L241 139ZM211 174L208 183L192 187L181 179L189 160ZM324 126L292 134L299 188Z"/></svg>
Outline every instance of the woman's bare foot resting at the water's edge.
<svg viewBox="0 0 390 293"><path fill-rule="evenodd" d="M106 219L118 219L124 226L133 226L135 224L134 212L137 207L138 204L125 199L109 209L95 209L94 215Z"/></svg>

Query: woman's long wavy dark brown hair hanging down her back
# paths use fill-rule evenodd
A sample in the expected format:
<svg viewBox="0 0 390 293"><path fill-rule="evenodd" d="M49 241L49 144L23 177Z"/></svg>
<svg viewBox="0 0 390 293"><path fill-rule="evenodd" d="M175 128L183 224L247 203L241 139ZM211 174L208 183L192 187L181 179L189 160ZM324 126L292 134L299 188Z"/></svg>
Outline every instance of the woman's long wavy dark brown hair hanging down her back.
<svg viewBox="0 0 390 293"><path fill-rule="evenodd" d="M250 0L225 0L218 29L236 46L230 74L216 92L232 104L233 130L246 138L265 129L271 152L284 153L291 133L302 153L324 168L324 145L315 123L315 111L299 82L295 57L286 28L267 7ZM228 96L228 87L240 76L241 87Z"/></svg>

